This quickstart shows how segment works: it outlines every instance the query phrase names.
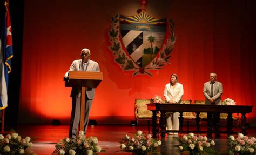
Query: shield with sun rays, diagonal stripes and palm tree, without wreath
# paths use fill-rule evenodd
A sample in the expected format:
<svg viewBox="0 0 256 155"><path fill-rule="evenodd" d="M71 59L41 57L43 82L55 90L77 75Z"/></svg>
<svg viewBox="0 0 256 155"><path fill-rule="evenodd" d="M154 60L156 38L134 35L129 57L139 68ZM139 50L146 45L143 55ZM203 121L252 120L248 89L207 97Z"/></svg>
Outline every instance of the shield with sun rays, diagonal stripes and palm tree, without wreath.
<svg viewBox="0 0 256 155"><path fill-rule="evenodd" d="M136 16L121 15L120 29L127 53L140 68L144 68L164 43L166 19L153 18L146 12Z"/></svg>

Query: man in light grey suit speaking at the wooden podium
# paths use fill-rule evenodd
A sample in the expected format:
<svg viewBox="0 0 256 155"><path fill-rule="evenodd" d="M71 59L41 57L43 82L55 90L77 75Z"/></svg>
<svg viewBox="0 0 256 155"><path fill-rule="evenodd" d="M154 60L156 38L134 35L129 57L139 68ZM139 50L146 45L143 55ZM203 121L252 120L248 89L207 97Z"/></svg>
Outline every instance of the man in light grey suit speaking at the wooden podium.
<svg viewBox="0 0 256 155"><path fill-rule="evenodd" d="M89 49L82 49L81 59L72 62L69 71L97 71L99 72L99 65L97 62L90 60L91 52ZM69 77L69 71L65 73L64 78ZM95 89L86 87L85 97L85 110L84 110L84 133L86 134L89 113L92 105L92 99L95 95ZM72 87L72 111L71 111L71 123L69 128L69 137L76 138L78 133L78 125L80 122L80 106L81 106L81 88ZM83 119L83 118L81 118Z"/></svg>

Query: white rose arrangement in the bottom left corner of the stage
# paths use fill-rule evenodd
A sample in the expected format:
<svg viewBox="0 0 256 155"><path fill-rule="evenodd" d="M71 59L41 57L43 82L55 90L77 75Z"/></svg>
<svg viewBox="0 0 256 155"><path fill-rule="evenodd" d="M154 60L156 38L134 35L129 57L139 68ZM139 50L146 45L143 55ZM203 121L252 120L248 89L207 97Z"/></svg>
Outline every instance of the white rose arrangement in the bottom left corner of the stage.
<svg viewBox="0 0 256 155"><path fill-rule="evenodd" d="M0 154L32 154L33 146L30 137L22 138L18 133L10 133L5 137L0 134Z"/></svg>

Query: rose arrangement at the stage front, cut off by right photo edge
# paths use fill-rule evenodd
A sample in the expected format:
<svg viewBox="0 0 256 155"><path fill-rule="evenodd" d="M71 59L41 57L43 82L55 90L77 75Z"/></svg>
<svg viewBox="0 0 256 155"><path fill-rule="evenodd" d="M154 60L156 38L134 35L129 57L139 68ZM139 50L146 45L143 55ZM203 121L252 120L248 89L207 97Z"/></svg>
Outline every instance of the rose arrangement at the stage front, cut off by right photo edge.
<svg viewBox="0 0 256 155"><path fill-rule="evenodd" d="M229 137L229 147L227 149L227 153L229 154L255 154L256 153L256 139L255 137L249 138L248 136L244 136L242 133L238 133L238 137L234 136Z"/></svg>

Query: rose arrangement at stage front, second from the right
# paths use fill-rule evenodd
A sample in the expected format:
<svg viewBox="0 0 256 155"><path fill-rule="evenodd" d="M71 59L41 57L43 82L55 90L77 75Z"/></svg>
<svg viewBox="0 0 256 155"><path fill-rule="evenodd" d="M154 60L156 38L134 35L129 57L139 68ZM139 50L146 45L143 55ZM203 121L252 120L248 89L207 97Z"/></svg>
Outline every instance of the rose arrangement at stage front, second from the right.
<svg viewBox="0 0 256 155"><path fill-rule="evenodd" d="M220 154L211 147L215 145L215 142L213 140L208 142L206 136L196 136L194 133L189 133L182 138L174 137L174 139L180 143L180 145L175 145L180 153L187 151L190 154Z"/></svg>

